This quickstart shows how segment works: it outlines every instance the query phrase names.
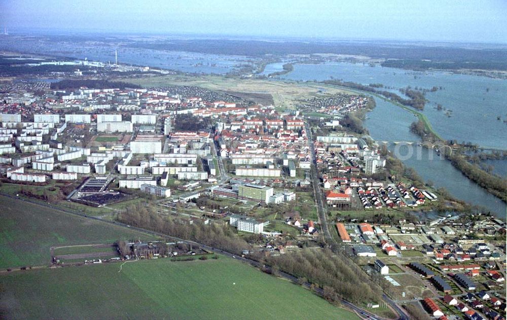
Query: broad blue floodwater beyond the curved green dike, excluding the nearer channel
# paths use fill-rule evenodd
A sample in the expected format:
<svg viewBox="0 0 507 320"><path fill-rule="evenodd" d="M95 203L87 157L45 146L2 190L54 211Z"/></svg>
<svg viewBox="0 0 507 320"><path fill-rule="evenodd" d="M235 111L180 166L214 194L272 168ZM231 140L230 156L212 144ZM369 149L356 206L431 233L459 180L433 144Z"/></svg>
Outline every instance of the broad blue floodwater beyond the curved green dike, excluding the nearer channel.
<svg viewBox="0 0 507 320"><path fill-rule="evenodd" d="M330 80L331 77L360 84L380 83L394 88L442 87L426 93L429 102L423 113L433 129L445 139L507 150L507 124L503 122L507 120L507 80L348 62L294 64L293 72L280 78L320 81ZM443 110L437 110L437 104L441 104ZM500 120L497 120L498 116Z"/></svg>

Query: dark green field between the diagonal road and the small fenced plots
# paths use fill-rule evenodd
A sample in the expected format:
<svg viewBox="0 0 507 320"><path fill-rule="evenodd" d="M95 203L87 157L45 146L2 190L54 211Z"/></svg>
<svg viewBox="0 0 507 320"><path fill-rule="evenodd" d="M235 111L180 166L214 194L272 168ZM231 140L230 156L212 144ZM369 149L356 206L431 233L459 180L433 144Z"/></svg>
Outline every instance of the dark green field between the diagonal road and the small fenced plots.
<svg viewBox="0 0 507 320"><path fill-rule="evenodd" d="M51 262L50 247L153 236L0 196L0 269Z"/></svg>

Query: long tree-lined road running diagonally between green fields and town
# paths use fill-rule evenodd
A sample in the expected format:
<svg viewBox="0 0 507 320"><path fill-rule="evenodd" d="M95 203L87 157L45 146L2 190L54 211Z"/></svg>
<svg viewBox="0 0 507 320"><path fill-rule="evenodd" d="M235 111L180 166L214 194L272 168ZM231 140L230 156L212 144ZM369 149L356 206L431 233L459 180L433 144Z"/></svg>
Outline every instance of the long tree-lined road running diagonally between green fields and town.
<svg viewBox="0 0 507 320"><path fill-rule="evenodd" d="M244 258L244 257L240 257L240 256L238 256L236 254L232 254L232 253L220 250L219 248L211 247L211 246L208 246L208 245L205 245L205 244L202 244L202 243L198 243L198 242L195 242L195 241L185 240L185 239L169 236L169 235L164 234L164 233L147 230L147 229L132 227L132 226L129 226L129 225L121 223L121 222L107 221L107 220L100 219L99 217L91 217L91 216L82 214L81 212L78 212L78 211L74 211L74 210L70 210L70 209L67 209L67 208L62 208L62 207L54 206L54 205L51 205L51 204L48 204L48 203L44 203L44 202L41 202L41 201L34 201L34 200L26 199L26 198L20 198L20 197L11 196L11 195L5 194L5 193L0 193L0 195L8 197L8 198L11 198L11 199L15 199L15 200L18 200L18 201L24 201L24 202L28 202L28 203L31 203L31 204L34 204L34 205L39 205L39 206L43 206L43 207L50 208L50 209L53 209L53 210L58 210L58 211L64 212L65 214L69 214L69 215L73 215L73 216L79 216L79 217L85 218L85 219L100 221L102 223L116 225L116 226L119 226L119 227L123 227L123 228L131 229L131 230L139 231L139 232L150 234L150 235L153 235L153 236L168 238L168 239L171 239L171 240L174 240L174 241L178 241L178 242L182 242L182 243L197 245L197 246L200 246L200 247L202 247L205 250L208 250L210 252L214 252L214 253L218 253L218 254L230 257L232 259L235 259L235 260L247 263L247 264L249 264L249 265L251 265L253 267L257 267L257 268L263 268L264 267L267 271L271 272L271 268L269 266L261 265L257 261L254 261L254 260L251 260L251 259L248 259L248 258ZM288 273L285 273L285 272L278 272L278 275L280 277L282 277L282 278L285 278L285 279L287 279L289 281L293 281L293 282L299 284L298 278L296 278L295 276L293 276L291 274L288 274ZM303 287L305 287L307 289L310 289L310 286L311 286L311 283L309 283L309 282L305 282L303 284ZM322 296L323 293L324 293L324 291L322 289L320 289L320 288L317 288L315 290L315 293L317 295L319 295L319 296ZM391 304L391 303L394 304L394 302L392 302L392 300L390 300L390 299L387 300L387 299L386 299L386 301L389 304ZM349 302L349 301L347 301L345 299L340 299L340 302L344 306L346 306L346 307L350 308L351 310L357 312L361 317L364 317L364 318L367 317L367 318L370 318L370 319L378 319L378 320L382 320L383 319L383 318L381 318L381 317L379 317L379 316L377 316L377 315L375 315L375 314L373 314L373 313L371 313L371 312L369 312L369 311L367 311L365 309L357 307L356 305L352 304L351 302ZM396 309L396 312L398 312L401 315L399 317L399 319L403 319L403 320L408 319L408 317L404 316L403 312L400 312L401 311L400 308L396 308L397 306L395 304L394 304L393 307Z"/></svg>

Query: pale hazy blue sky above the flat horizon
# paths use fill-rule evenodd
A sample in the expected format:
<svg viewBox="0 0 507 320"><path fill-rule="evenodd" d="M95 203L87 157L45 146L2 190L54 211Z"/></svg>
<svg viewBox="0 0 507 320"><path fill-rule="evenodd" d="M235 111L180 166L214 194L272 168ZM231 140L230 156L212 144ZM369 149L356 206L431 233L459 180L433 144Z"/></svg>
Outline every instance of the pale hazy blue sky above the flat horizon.
<svg viewBox="0 0 507 320"><path fill-rule="evenodd" d="M16 30L507 43L507 0L0 0Z"/></svg>

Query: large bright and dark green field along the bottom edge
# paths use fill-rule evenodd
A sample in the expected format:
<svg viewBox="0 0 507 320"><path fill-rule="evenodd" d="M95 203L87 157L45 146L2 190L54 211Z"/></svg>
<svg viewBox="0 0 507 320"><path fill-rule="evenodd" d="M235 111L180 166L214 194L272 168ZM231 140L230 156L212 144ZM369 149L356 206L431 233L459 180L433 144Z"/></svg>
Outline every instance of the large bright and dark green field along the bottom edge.
<svg viewBox="0 0 507 320"><path fill-rule="evenodd" d="M12 272L4 318L358 319L291 282L220 257ZM29 288L29 290L28 290Z"/></svg>

